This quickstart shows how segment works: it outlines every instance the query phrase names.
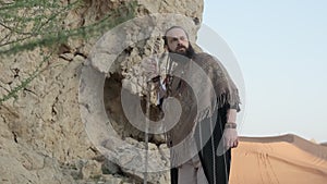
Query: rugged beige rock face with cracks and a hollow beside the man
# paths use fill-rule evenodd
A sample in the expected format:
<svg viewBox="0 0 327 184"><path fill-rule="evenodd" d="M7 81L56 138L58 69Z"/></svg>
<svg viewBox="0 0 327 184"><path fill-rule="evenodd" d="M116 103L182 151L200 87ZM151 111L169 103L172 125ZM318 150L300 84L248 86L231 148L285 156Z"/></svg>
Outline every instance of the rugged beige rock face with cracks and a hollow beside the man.
<svg viewBox="0 0 327 184"><path fill-rule="evenodd" d="M68 2L71 1L63 2L63 5ZM85 0L85 7L81 10L69 12L63 26L69 28L92 24L126 2ZM192 39L195 40L196 30L202 21L203 1L138 0L136 12L138 17L154 13L180 14L180 16L172 16L168 24L160 21L162 16L156 16L158 19L156 22L166 23L162 29L148 30L149 35L157 36L170 25L178 24L179 17L183 19L181 15L185 15L191 25L187 28L194 35ZM120 184L142 182L144 174L130 170L125 165L143 164L143 160L137 160L135 155L130 155L126 150L130 149L133 152L135 149L144 148L144 137L142 132L129 124L119 105L123 79L134 75L134 65L152 53L152 47L156 42L153 36L136 41L146 35L141 32L142 26L136 24L134 29L121 33L124 38L129 37L124 39L125 44L134 42L122 48L122 52L114 50L108 52L107 48L106 54L101 56L101 48L94 48L94 46L110 48L125 46L119 40L99 44L106 40L106 36L100 39L99 37L87 40L70 39L65 45L58 46L60 51L43 65L43 72L17 93L16 98L11 98L0 106L0 183ZM98 39L99 41L96 42ZM41 53L45 51L35 49L12 57L1 57L0 97L13 90L38 68L44 59ZM119 64L107 69L107 54ZM95 62L96 60L105 62ZM102 89L108 93L102 96L104 106L112 124L111 131L117 133L114 135L119 139L117 143L134 145L133 147L110 149L117 144L110 142L112 137L105 143L94 143L87 133L85 122L81 118L81 100L78 99L80 78L87 64L106 76ZM135 87L135 84L130 84L134 85L131 88L137 88L137 85ZM141 90L131 89L130 94L137 95L138 91ZM153 135L150 142L153 143L149 146L152 150L149 168L169 167L167 160L169 156L165 152L167 148L162 137ZM98 147L99 145L102 147ZM148 179L150 183L169 183L169 173L167 171L153 173Z"/></svg>

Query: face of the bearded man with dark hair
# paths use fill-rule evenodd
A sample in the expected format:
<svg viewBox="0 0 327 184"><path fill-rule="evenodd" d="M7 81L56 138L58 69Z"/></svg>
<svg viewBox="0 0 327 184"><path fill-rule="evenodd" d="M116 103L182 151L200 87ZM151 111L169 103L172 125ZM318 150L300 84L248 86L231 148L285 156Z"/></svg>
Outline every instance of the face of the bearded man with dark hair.
<svg viewBox="0 0 327 184"><path fill-rule="evenodd" d="M189 39L181 28L172 28L166 34L167 47L170 52L185 54L189 49Z"/></svg>

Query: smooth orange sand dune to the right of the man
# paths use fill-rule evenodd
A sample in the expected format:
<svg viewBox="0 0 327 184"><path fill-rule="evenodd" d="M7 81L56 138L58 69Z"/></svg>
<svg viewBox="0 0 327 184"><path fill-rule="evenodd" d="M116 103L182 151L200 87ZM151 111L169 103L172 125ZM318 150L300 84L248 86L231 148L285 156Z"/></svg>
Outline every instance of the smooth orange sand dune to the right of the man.
<svg viewBox="0 0 327 184"><path fill-rule="evenodd" d="M231 184L327 184L327 146L291 134L240 140Z"/></svg>

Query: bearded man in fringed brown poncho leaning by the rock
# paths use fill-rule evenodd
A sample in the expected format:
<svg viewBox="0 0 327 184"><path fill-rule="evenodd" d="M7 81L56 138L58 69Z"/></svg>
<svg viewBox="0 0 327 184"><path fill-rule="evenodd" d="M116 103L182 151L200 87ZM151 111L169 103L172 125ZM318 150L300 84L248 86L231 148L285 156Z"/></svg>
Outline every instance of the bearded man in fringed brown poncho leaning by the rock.
<svg viewBox="0 0 327 184"><path fill-rule="evenodd" d="M167 72L161 83L159 76L155 83L166 91L164 101L173 97L182 107L179 122L167 132L167 145L171 148L171 183L227 184L230 148L238 146L238 89L218 60L207 53L195 53L182 27L167 29L164 39L171 62L177 66ZM197 68L207 77L199 77ZM155 69L147 68L149 71ZM195 155L192 155L192 145L196 145Z"/></svg>

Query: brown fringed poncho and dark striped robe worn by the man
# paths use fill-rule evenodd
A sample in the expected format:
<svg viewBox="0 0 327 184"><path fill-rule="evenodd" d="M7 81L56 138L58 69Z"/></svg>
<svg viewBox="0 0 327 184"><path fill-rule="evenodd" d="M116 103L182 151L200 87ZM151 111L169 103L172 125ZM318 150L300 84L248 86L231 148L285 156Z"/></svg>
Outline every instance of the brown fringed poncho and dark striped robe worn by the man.
<svg viewBox="0 0 327 184"><path fill-rule="evenodd" d="M196 53L192 62L181 60L179 66L168 72L170 78L166 84L167 97L177 98L182 107L179 122L167 133L167 145L172 150L171 183L178 184L178 167L198 155L208 183L227 184L231 150L218 154L217 149L223 145L227 111L240 111L238 89L214 57Z"/></svg>

